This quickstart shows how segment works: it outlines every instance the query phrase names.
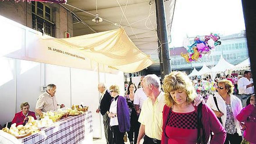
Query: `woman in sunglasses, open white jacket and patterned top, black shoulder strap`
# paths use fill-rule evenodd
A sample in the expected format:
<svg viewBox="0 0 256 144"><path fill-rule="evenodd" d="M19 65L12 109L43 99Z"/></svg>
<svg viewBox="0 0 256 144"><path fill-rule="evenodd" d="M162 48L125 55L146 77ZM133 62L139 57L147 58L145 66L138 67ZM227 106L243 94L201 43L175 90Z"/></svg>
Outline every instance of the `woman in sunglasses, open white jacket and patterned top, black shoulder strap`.
<svg viewBox="0 0 256 144"><path fill-rule="evenodd" d="M236 117L242 109L241 100L232 95L234 85L227 79L218 82L217 90L218 93L208 98L207 104L214 111L216 116L220 118L219 120L227 131L224 144L229 144L229 142L230 144L240 144L242 141L242 133L240 122ZM216 102L214 99L216 99Z"/></svg>

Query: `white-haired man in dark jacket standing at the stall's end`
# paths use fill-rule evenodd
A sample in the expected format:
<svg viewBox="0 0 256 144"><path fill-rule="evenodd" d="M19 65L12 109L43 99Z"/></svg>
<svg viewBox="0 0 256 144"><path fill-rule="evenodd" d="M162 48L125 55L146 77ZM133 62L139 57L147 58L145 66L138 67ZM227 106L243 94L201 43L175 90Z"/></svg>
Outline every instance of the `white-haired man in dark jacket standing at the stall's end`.
<svg viewBox="0 0 256 144"><path fill-rule="evenodd" d="M103 116L104 132L105 132L107 144L113 144L113 134L112 134L112 131L110 130L110 126L109 126L110 118L108 116L112 97L104 83L99 83L98 90L100 92L100 99L99 99L99 107L96 110L96 113L100 112Z"/></svg>

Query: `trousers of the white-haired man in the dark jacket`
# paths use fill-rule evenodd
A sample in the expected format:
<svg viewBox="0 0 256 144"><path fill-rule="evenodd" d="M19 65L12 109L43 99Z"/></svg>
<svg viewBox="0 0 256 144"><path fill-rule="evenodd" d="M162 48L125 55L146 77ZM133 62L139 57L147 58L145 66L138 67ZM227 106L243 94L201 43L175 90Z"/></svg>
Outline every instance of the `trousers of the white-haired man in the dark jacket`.
<svg viewBox="0 0 256 144"><path fill-rule="evenodd" d="M113 133L110 130L109 126L110 118L107 113L103 115L103 124L104 124L104 132L105 132L105 137L107 144L113 144Z"/></svg>

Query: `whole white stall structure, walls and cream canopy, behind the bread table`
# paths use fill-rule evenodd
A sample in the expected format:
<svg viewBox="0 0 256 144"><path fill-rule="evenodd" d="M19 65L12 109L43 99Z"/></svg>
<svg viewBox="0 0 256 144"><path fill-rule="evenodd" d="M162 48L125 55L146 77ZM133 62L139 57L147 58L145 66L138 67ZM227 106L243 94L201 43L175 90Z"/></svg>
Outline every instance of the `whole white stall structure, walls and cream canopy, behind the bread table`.
<svg viewBox="0 0 256 144"><path fill-rule="evenodd" d="M129 40L123 29L68 39L55 39L0 16L0 105L1 125L10 122L22 102L35 111L42 86L57 86L58 103L89 106L93 116L93 137L101 137L101 115L97 84L116 84L124 94L124 72L136 72L154 61ZM84 42L83 38L87 38ZM94 41L94 43L90 43ZM79 46L79 45L82 46ZM120 46L121 45L121 46ZM124 48L122 48L124 47ZM113 49L112 49L113 48ZM123 51L122 51L123 50ZM133 58L125 56L131 53ZM104 59L104 60L102 60Z"/></svg>

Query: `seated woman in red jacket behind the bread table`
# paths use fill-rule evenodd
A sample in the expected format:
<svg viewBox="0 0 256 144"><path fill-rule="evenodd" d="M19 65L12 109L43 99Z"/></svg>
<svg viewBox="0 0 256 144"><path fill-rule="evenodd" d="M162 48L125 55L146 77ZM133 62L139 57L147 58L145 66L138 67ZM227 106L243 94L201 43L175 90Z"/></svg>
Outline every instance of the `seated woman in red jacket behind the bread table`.
<svg viewBox="0 0 256 144"><path fill-rule="evenodd" d="M28 116L32 116L36 120L35 113L33 111L29 111L28 102L20 104L20 109L21 111L15 114L12 124L16 123L16 125L25 125L29 120Z"/></svg>

